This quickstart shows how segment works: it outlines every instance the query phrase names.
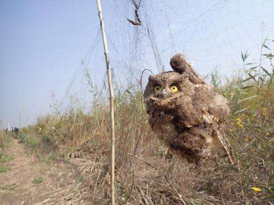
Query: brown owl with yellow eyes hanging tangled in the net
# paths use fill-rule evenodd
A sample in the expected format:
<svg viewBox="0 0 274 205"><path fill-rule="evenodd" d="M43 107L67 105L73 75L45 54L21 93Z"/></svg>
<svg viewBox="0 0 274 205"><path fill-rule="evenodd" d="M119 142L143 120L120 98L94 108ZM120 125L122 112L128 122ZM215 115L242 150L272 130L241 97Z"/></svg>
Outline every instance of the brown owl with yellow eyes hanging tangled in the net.
<svg viewBox="0 0 274 205"><path fill-rule="evenodd" d="M144 91L152 131L182 159L232 154L228 143L227 99L198 76L183 55L170 60L174 71L150 75Z"/></svg>

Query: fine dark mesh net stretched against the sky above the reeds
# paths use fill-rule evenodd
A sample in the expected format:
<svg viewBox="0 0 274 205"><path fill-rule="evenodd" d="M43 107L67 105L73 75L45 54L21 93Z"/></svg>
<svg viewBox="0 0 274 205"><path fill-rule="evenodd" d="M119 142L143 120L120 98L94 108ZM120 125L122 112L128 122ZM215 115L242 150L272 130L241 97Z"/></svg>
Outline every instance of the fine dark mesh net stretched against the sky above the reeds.
<svg viewBox="0 0 274 205"><path fill-rule="evenodd" d="M139 82L145 68L153 73L170 70L169 60L175 53L185 54L200 75L217 69L221 78L231 76L243 65L242 52L249 51L249 61L258 63L262 42L267 36L274 37L273 0L136 0L140 3L138 26L127 20L136 20L132 0L108 3L111 5L103 4L103 9L110 6L112 10L105 27L116 88L126 89ZM107 92L99 21L97 29L62 103L74 95L90 107L91 92L92 100ZM87 73L92 85L87 83Z"/></svg>

